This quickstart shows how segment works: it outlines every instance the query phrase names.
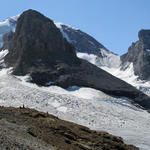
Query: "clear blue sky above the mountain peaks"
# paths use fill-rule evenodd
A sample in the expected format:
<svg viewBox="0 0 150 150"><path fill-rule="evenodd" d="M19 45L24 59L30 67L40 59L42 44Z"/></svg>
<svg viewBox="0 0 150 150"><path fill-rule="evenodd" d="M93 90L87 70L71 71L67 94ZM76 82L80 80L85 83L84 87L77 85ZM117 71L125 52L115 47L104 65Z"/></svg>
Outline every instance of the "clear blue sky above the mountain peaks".
<svg viewBox="0 0 150 150"><path fill-rule="evenodd" d="M79 28L117 54L150 29L150 0L3 0L0 21L27 9Z"/></svg>

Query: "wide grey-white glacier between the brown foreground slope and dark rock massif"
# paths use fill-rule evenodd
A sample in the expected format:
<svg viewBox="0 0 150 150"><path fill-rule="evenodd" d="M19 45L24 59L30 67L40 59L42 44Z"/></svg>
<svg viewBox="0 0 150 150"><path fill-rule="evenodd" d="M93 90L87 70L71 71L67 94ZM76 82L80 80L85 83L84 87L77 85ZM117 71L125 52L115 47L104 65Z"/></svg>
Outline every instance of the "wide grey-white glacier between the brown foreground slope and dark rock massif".
<svg viewBox="0 0 150 150"><path fill-rule="evenodd" d="M0 55L2 52L0 53ZM121 136L126 143L150 148L150 114L131 105L126 98L115 98L91 88L39 87L26 82L29 76L13 76L0 70L0 105L25 106L92 129Z"/></svg>

